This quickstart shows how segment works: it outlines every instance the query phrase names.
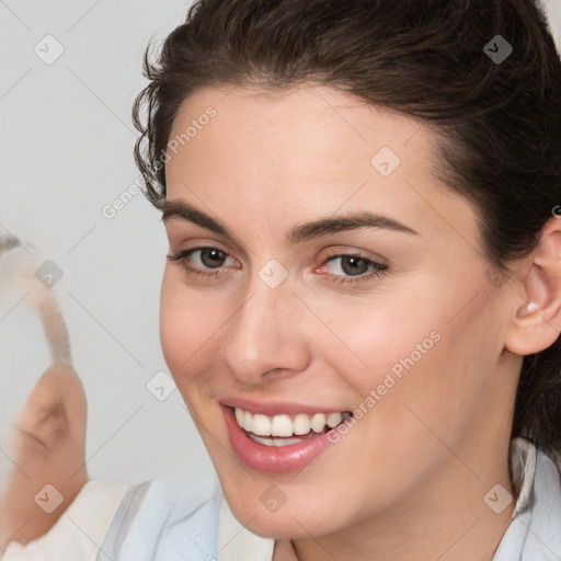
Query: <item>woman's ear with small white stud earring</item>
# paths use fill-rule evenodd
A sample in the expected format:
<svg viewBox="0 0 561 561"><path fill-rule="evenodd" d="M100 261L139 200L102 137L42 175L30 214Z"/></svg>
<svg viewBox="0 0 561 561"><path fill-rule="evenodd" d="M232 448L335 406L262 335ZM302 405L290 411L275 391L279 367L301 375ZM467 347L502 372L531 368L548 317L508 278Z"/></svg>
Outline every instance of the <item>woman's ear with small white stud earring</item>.
<svg viewBox="0 0 561 561"><path fill-rule="evenodd" d="M522 260L505 346L517 355L551 346L561 330L561 219L551 218L530 255Z"/></svg>

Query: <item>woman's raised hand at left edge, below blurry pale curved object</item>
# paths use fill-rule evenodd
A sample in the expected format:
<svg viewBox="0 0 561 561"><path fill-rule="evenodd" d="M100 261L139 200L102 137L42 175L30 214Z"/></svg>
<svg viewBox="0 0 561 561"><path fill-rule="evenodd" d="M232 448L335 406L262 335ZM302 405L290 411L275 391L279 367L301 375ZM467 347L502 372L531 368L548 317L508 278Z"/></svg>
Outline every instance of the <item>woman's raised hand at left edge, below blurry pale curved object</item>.
<svg viewBox="0 0 561 561"><path fill-rule="evenodd" d="M87 483L85 409L70 365L55 364L37 381L15 425L15 467L0 497L0 543L46 534ZM47 484L57 494L44 491ZM56 508L48 512L42 502Z"/></svg>

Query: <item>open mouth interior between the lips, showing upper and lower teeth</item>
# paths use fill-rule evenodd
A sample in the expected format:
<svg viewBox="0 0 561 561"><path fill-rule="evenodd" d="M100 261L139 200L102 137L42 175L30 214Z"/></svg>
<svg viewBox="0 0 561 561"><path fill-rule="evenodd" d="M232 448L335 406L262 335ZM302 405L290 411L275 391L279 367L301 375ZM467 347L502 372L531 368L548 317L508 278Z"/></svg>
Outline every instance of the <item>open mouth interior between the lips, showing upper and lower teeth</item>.
<svg viewBox="0 0 561 561"><path fill-rule="evenodd" d="M352 416L348 411L334 413L298 413L267 416L232 408L238 426L253 442L265 446L290 446L325 434Z"/></svg>

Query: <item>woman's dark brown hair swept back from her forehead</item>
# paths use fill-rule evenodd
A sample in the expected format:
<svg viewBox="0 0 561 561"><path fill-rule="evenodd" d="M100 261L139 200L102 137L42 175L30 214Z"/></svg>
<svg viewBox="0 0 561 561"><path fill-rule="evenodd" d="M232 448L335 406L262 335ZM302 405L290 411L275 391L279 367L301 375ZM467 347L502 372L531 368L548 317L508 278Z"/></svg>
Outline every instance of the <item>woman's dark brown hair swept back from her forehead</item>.
<svg viewBox="0 0 561 561"><path fill-rule="evenodd" d="M506 58L494 56L508 46ZM302 82L437 131L437 173L479 209L491 279L535 248L561 203L561 61L531 0L201 0L156 61L147 49L145 76L135 159L157 207L165 199L161 154L185 98L218 84ZM513 426L513 436L553 450L560 366L561 340L524 357Z"/></svg>

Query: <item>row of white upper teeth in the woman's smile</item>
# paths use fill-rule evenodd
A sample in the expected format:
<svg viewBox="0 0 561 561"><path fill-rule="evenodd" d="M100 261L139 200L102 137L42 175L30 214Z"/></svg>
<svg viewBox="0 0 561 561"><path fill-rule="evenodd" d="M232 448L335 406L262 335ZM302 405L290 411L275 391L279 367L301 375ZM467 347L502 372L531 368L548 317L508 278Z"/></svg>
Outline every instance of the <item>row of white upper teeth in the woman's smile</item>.
<svg viewBox="0 0 561 561"><path fill-rule="evenodd" d="M325 428L334 428L350 416L350 413L347 412L336 412L329 413L328 415L324 413L316 413L313 415L298 413L294 419L289 415L275 415L270 417L261 413L252 414L249 411L244 411L239 408L234 408L234 414L238 425L244 431L248 431L248 433L252 433L257 436L284 437L283 440L278 442L288 442L287 437L293 435L301 436L310 433L310 431L318 434L323 433ZM263 438L260 438L255 442L262 440ZM294 440L294 438L290 439L290 442L291 440ZM277 442L275 438L266 440L268 446L280 446L280 444L271 444L275 442ZM300 442L300 439L296 439L296 442ZM291 442L291 444L294 443Z"/></svg>

